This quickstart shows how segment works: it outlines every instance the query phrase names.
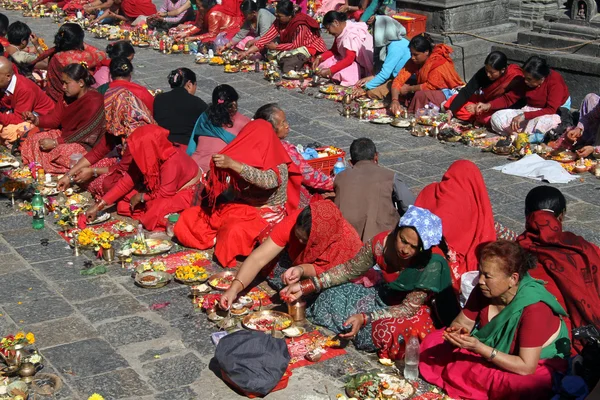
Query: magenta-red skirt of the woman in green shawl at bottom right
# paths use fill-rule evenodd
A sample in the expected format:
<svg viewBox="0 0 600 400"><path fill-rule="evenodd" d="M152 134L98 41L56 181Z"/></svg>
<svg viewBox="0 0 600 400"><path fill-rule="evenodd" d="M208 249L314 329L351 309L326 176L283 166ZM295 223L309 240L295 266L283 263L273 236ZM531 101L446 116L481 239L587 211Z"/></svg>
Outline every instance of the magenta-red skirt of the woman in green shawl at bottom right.
<svg viewBox="0 0 600 400"><path fill-rule="evenodd" d="M421 343L419 372L452 398L546 400L552 397L552 374L567 367L567 360L554 358L540 360L532 375L514 374L478 354L453 347L444 341L443 332L438 330Z"/></svg>

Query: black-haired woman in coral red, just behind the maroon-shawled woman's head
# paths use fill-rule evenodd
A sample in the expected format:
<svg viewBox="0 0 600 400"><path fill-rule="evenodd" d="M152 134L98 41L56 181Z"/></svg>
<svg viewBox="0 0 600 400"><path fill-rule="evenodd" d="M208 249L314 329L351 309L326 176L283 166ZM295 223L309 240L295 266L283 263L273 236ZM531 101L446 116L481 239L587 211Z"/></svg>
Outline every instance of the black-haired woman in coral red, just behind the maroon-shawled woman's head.
<svg viewBox="0 0 600 400"><path fill-rule="evenodd" d="M85 63L87 69L95 71L106 54L83 43L85 33L81 26L74 23L63 24L54 37L54 47L44 52L37 61L48 56L48 86L46 93L52 100L59 102L63 98L62 70L69 64Z"/></svg>

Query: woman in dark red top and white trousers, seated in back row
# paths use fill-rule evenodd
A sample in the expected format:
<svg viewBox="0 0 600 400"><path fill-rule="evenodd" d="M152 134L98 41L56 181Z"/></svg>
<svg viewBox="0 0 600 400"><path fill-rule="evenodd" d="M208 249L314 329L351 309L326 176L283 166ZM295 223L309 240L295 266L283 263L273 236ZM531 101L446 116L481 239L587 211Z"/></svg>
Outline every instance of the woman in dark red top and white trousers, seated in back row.
<svg viewBox="0 0 600 400"><path fill-rule="evenodd" d="M556 113L558 109L571 107L565 80L558 72L550 69L545 59L530 57L523 64L523 75L524 90L506 93L478 106L482 111L500 110L492 115L490 121L496 133L546 133L560 125L560 116ZM508 109L521 98L525 99L525 107Z"/></svg>

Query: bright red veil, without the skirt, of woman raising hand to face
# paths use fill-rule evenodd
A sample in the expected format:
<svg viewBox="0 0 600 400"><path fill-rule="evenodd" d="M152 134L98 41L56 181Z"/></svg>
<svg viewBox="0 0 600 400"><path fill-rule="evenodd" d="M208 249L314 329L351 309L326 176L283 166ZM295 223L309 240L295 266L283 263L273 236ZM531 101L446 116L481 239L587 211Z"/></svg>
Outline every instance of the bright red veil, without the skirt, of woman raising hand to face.
<svg viewBox="0 0 600 400"><path fill-rule="evenodd" d="M221 151L233 160L244 163L262 171L273 170L279 174L277 166L287 164L287 212L298 208L300 202L300 186L302 174L300 169L287 154L281 141L275 135L273 126L265 120L250 121L244 129ZM208 180L208 198L214 204L216 198L229 186L228 178L233 172L227 169L216 168L210 161L210 175ZM235 177L237 178L237 177ZM236 186L236 179L231 179L231 184Z"/></svg>

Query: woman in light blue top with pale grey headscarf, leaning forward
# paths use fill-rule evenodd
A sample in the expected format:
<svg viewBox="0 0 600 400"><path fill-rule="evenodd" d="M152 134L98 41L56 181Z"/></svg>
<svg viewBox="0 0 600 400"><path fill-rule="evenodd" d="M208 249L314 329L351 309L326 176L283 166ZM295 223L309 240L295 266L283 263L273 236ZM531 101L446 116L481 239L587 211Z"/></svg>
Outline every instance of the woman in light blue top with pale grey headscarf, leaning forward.
<svg viewBox="0 0 600 400"><path fill-rule="evenodd" d="M408 40L404 38L406 29L402 24L387 15L375 17L373 44L375 45L375 76L369 76L356 83L354 97L364 96L383 100L390 95L392 81L410 60ZM383 63L383 64L382 64Z"/></svg>

